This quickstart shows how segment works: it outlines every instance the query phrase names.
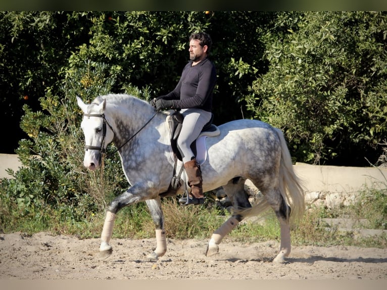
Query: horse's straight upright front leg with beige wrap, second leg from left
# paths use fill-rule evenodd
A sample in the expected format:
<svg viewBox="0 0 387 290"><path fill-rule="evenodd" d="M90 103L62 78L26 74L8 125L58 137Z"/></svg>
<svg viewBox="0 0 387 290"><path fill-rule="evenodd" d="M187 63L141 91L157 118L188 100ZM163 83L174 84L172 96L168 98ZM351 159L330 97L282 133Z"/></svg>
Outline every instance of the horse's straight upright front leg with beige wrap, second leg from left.
<svg viewBox="0 0 387 290"><path fill-rule="evenodd" d="M164 230L164 214L160 197L146 201L156 228L156 250L148 255L149 259L158 259L167 252L167 240Z"/></svg>

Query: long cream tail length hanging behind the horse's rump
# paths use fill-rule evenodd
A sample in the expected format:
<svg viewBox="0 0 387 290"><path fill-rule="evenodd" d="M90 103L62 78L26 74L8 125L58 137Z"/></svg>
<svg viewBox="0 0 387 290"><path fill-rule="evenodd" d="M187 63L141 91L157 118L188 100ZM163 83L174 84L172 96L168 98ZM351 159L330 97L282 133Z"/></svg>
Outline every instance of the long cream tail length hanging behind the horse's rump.
<svg viewBox="0 0 387 290"><path fill-rule="evenodd" d="M274 128L281 141L281 162L279 168L279 190L282 198L291 208L288 219L295 221L301 219L305 212L304 189L301 186L301 180L294 172L292 157L286 145L282 131Z"/></svg>

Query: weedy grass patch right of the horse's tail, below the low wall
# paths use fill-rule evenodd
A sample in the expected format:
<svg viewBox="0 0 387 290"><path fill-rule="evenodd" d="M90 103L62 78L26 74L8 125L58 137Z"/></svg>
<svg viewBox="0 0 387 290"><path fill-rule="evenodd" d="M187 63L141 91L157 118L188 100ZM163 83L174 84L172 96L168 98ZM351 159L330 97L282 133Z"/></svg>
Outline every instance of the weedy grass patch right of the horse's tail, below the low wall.
<svg viewBox="0 0 387 290"><path fill-rule="evenodd" d="M352 230L342 231L337 225L329 225L323 218L344 218L354 221ZM327 209L309 208L304 218L295 227L292 241L299 245L358 246L385 248L385 232L373 236L362 236L358 229L385 230L387 222L387 189L364 189L350 206Z"/></svg>

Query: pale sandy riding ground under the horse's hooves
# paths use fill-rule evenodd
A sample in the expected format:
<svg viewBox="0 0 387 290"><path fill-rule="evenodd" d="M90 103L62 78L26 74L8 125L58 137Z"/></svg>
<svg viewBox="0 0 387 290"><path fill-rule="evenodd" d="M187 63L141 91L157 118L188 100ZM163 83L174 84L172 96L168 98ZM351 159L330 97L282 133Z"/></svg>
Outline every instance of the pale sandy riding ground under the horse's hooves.
<svg viewBox="0 0 387 290"><path fill-rule="evenodd" d="M167 253L149 261L155 239L112 239L113 254L101 260L98 238L0 234L0 279L387 279L387 249L293 246L285 264L274 264L276 241L225 239L212 257L207 242L168 239Z"/></svg>

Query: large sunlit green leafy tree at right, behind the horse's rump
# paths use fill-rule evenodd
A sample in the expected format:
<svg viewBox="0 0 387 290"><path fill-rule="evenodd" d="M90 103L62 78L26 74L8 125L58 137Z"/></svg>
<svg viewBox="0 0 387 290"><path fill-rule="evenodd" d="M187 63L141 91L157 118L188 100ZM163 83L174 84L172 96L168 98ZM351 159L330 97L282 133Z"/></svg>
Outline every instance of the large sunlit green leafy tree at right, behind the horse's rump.
<svg viewBox="0 0 387 290"><path fill-rule="evenodd" d="M297 161L376 161L387 130L386 16L281 14L265 35L269 71L253 82L248 106L285 131Z"/></svg>

